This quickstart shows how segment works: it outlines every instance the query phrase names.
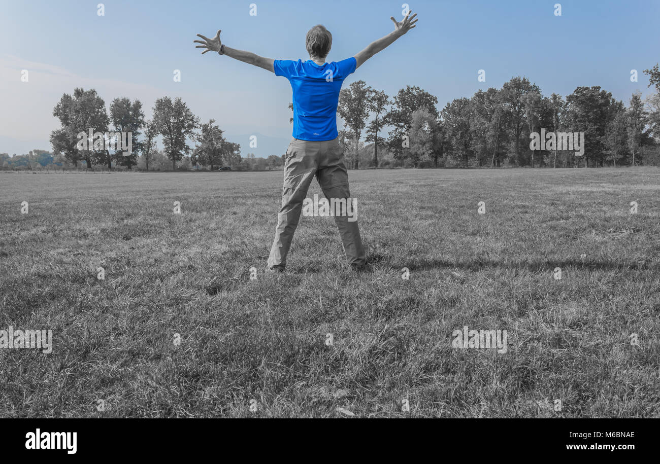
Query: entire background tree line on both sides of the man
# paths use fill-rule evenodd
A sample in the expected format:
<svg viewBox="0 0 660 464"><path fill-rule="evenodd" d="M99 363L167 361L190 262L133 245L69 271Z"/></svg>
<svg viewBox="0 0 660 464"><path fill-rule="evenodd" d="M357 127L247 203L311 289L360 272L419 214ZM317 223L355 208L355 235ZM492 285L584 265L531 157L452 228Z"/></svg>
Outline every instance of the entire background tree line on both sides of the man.
<svg viewBox="0 0 660 464"><path fill-rule="evenodd" d="M527 78L517 76L502 88L479 90L471 98L456 98L438 111L438 98L418 86L406 86L390 98L364 80L341 90L337 115L344 122L339 140L348 167L573 167L660 164L660 70L658 64L644 71L655 93L642 100L640 92L628 106L599 86L580 86L566 98L543 96ZM255 158L240 155L240 145L229 142L214 119L200 123L181 98L165 96L154 103L152 118L145 119L142 103L115 98L106 111L96 90L76 88L64 94L53 109L61 127L53 130L51 156L34 150L10 158L0 154L3 167L32 167L34 163L77 163L124 166L141 163L162 168L164 162L184 166L229 165L242 169L277 169L284 156ZM289 108L293 109L289 103ZM290 118L290 121L293 121ZM387 136L383 134L389 128ZM130 132L132 151L126 154L92 143L78 146L80 132ZM554 146L550 151L531 150L530 134L584 132L584 156ZM163 150L156 148L162 136ZM195 146L189 146L193 140Z"/></svg>

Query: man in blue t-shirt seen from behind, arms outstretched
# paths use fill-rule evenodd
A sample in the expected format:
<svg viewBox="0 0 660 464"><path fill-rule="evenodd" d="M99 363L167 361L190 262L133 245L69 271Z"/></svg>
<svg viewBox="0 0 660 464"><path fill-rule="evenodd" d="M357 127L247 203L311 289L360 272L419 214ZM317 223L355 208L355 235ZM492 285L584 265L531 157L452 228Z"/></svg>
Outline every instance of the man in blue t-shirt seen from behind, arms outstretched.
<svg viewBox="0 0 660 464"><path fill-rule="evenodd" d="M273 60L227 47L220 42L220 30L213 39L197 34L203 40L194 42L201 44L196 48L205 49L202 54L217 51L220 55L255 65L277 76L285 76L291 83L293 140L286 150L282 208L277 215L275 240L267 270L284 271L303 200L314 177L328 200L345 200L345 204L351 201L344 154L337 138L337 105L341 85L362 63L414 28L417 22L415 16L411 16L409 11L399 22L392 17L395 24L393 32L372 42L354 57L331 63L326 63L325 57L332 46L332 34L320 24L307 33L305 42L310 54L307 61ZM335 214L335 223L348 264L354 270L370 270L357 221L349 221L348 215L343 212L341 215Z"/></svg>

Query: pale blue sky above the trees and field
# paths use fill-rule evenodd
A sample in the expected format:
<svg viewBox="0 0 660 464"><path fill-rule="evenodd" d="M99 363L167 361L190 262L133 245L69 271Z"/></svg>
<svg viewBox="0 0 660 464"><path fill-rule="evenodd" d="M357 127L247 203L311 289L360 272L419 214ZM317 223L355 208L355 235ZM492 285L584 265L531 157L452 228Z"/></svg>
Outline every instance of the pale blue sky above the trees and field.
<svg viewBox="0 0 660 464"><path fill-rule="evenodd" d="M104 15L98 15L102 3ZM561 16L556 16L556 3ZM251 4L256 5L256 15ZM420 86L447 102L526 76L545 96L601 86L626 105L645 96L642 72L660 61L658 0L419 0L417 27L348 76L389 96ZM162 96L215 119L242 155L281 155L291 138L286 78L217 53L195 34L272 59L309 59L306 32L333 34L327 61L353 56L393 30L404 2L387 0L0 0L0 153L51 150L53 107L77 87L106 107L139 99L147 118ZM479 82L479 70L485 82ZM638 82L630 72L638 71ZM28 70L28 82L22 82ZM180 82L174 81L175 70ZM341 129L341 119L338 121ZM249 136L257 135L257 148ZM162 145L159 146L162 148Z"/></svg>

